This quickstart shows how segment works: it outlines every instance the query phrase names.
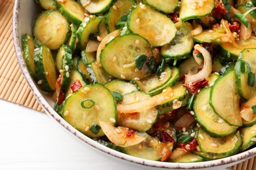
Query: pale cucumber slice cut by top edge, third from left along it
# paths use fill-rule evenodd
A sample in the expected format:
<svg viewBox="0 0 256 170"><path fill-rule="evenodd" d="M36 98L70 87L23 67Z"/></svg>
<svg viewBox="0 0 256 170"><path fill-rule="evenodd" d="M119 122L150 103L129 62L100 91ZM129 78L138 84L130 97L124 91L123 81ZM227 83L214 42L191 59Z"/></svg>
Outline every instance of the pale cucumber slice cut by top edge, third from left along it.
<svg viewBox="0 0 256 170"><path fill-rule="evenodd" d="M103 13L110 8L113 0L93 0L88 4L87 0L79 0L81 5L85 7L90 14Z"/></svg>

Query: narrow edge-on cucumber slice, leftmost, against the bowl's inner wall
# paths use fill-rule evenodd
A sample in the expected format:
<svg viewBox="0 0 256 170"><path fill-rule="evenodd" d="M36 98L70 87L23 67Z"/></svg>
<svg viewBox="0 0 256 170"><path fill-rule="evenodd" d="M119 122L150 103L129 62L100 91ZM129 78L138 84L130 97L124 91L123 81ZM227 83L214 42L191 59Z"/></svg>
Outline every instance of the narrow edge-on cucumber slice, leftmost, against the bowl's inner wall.
<svg viewBox="0 0 256 170"><path fill-rule="evenodd" d="M34 49L35 46L33 45L33 37L29 34L24 34L22 36L22 49L23 49L23 57L25 59L26 65L30 74L33 76L35 74L35 64L34 64Z"/></svg>

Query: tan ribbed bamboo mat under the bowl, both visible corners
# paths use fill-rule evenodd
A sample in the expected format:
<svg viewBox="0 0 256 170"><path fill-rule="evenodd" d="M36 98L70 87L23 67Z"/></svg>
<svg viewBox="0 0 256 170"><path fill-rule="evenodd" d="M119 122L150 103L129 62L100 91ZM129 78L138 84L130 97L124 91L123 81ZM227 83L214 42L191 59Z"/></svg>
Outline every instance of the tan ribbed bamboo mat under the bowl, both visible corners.
<svg viewBox="0 0 256 170"><path fill-rule="evenodd" d="M14 0L0 0L0 99L43 112L24 79L12 42ZM256 158L230 167L233 170L256 169Z"/></svg>

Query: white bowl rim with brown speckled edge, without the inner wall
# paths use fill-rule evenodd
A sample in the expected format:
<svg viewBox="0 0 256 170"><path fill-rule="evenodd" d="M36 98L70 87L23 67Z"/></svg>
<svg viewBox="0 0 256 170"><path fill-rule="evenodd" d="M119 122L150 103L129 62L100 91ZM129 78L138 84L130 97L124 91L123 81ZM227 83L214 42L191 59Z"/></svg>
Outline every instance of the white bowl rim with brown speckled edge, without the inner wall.
<svg viewBox="0 0 256 170"><path fill-rule="evenodd" d="M39 104L45 110L45 112L51 118L53 118L55 122L58 122L58 124L63 126L65 129L67 129L70 133L72 133L77 139L79 139L83 143L86 143L89 146L96 148L97 150L105 152L106 154L109 154L121 160L130 161L132 163L137 163L139 165L146 165L149 167L159 167L163 169L166 169L166 168L167 169L202 169L202 168L216 167L221 165L226 165L226 167L228 167L228 165L232 165L236 162L239 163L240 161L249 159L256 155L256 147L254 147L245 152L241 152L240 154L229 156L227 158L221 158L219 160L201 161L201 162L192 162L192 163L173 163L173 162L163 162L163 161L152 161L152 160L137 158L134 156L129 156L128 154L123 154L121 152L117 152L116 150L113 150L111 148L103 146L102 144L97 143L93 139L79 132L77 129L75 129L70 124L68 124L68 122L66 122L57 112L53 110L51 105L49 105L49 103L43 97L42 93L39 92L39 90L37 89L35 82L33 82L32 76L30 76L28 68L26 67L26 63L22 56L22 48L20 44L20 37L18 34L18 29L20 26L19 25L20 1L22 0L15 0L15 3L14 3L13 16L12 16L12 35L13 35L14 49L16 52L16 58L18 59L18 64L20 65L20 69L22 70L22 75L28 82L28 86L30 87L30 90L32 90L33 95L35 95L35 98L37 99L37 101L39 101Z"/></svg>

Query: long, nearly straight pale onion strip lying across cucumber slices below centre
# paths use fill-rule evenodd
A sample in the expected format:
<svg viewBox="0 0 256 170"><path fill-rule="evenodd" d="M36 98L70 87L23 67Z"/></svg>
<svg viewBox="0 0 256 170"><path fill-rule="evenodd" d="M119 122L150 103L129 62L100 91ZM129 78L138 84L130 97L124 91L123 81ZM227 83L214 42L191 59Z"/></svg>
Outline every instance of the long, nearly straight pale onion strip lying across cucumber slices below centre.
<svg viewBox="0 0 256 170"><path fill-rule="evenodd" d="M142 112L143 110L156 107L157 105L161 105L167 102L171 98L172 92L173 92L173 89L170 87L167 87L165 90L163 90L162 93L155 95L153 97L150 97L148 99L138 101L137 103L118 104L117 112L123 112L123 113Z"/></svg>

